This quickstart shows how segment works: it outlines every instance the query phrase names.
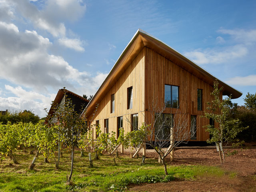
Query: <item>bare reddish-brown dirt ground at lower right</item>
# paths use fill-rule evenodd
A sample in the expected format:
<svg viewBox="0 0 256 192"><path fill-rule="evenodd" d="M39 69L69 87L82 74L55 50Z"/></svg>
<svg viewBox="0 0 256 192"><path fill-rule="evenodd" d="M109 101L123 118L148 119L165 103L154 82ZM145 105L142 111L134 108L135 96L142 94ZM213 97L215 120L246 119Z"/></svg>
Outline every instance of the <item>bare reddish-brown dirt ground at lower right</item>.
<svg viewBox="0 0 256 192"><path fill-rule="evenodd" d="M225 149L226 150L226 149ZM196 180L175 180L168 183L140 184L129 186L128 191L148 192L256 192L256 143L247 143L243 148L229 148L226 152L237 150L237 154L226 157L220 165L216 147L176 148L174 161L169 165L220 166L226 171L236 172L234 178L198 177ZM128 152L127 152L128 154ZM154 150L147 150L147 158L158 160ZM170 161L170 160L168 160Z"/></svg>

